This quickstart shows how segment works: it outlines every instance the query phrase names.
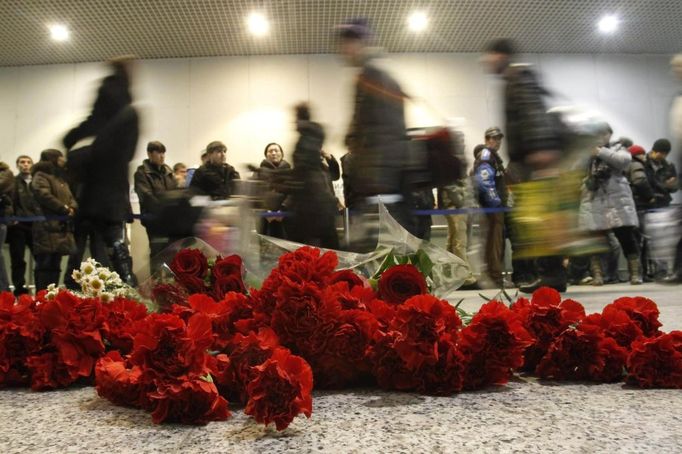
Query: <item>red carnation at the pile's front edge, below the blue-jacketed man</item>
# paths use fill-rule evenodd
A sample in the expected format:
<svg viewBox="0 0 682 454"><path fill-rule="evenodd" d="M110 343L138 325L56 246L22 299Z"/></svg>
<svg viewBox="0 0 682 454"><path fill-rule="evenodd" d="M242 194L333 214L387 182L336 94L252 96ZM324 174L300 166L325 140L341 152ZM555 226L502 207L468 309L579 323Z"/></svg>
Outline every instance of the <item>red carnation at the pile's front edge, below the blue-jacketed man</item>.
<svg viewBox="0 0 682 454"><path fill-rule="evenodd" d="M523 353L532 343L533 337L507 306L500 301L484 304L460 334L466 362L464 387L507 383L512 369L523 365Z"/></svg>

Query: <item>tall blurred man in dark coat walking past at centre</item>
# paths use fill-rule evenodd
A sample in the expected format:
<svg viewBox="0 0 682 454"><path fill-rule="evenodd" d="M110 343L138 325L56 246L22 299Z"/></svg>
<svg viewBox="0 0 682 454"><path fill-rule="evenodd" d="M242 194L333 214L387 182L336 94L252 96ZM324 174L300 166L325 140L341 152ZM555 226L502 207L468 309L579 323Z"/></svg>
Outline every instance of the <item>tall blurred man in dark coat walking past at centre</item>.
<svg viewBox="0 0 682 454"><path fill-rule="evenodd" d="M372 32L367 19L358 18L337 27L340 52L348 64L359 68L355 107L346 135L352 159L346 160L344 181L353 188L354 202L367 214L376 214L382 201L408 232L416 235L410 187L405 165L408 158L405 128L405 93L387 72L372 63ZM369 230L371 232L371 229ZM371 247L368 241L359 248Z"/></svg>

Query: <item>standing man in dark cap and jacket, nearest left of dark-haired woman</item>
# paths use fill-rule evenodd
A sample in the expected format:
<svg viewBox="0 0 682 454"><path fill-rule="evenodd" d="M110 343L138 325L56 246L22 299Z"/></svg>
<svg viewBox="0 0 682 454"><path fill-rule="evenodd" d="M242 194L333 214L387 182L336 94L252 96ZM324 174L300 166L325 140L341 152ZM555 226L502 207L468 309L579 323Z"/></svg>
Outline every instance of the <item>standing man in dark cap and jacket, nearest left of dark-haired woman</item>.
<svg viewBox="0 0 682 454"><path fill-rule="evenodd" d="M196 194L210 196L212 200L229 199L234 192L235 180L239 180L239 172L225 162L227 147L216 140L206 146L206 153L206 163L194 172L189 187Z"/></svg>

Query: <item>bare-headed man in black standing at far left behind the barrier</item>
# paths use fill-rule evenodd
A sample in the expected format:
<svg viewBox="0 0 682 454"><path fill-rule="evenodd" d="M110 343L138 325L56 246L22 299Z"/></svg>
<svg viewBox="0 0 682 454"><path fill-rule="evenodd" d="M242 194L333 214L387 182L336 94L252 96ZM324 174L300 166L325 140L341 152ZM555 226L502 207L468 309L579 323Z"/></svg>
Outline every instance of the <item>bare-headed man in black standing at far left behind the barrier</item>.
<svg viewBox="0 0 682 454"><path fill-rule="evenodd" d="M35 216L35 200L29 186L32 179L33 159L30 156L21 155L17 158L16 163L19 173L14 178L14 195L12 197L14 215L19 217ZM33 251L31 223L16 222L11 224L7 229L7 242L9 243L9 255L12 262L14 294L19 296L28 293L24 255L26 248L31 252Z"/></svg>

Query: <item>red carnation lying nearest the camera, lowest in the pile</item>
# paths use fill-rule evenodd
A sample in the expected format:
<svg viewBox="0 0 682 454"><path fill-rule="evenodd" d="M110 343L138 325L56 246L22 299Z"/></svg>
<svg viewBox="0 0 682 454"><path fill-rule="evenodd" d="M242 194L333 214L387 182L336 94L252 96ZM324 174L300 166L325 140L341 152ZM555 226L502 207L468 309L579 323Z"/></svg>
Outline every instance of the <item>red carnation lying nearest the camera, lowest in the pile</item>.
<svg viewBox="0 0 682 454"><path fill-rule="evenodd" d="M244 412L262 424L274 422L277 430L284 430L300 413L310 418L312 388L313 373L308 363L279 347L255 367L254 378L247 386Z"/></svg>

